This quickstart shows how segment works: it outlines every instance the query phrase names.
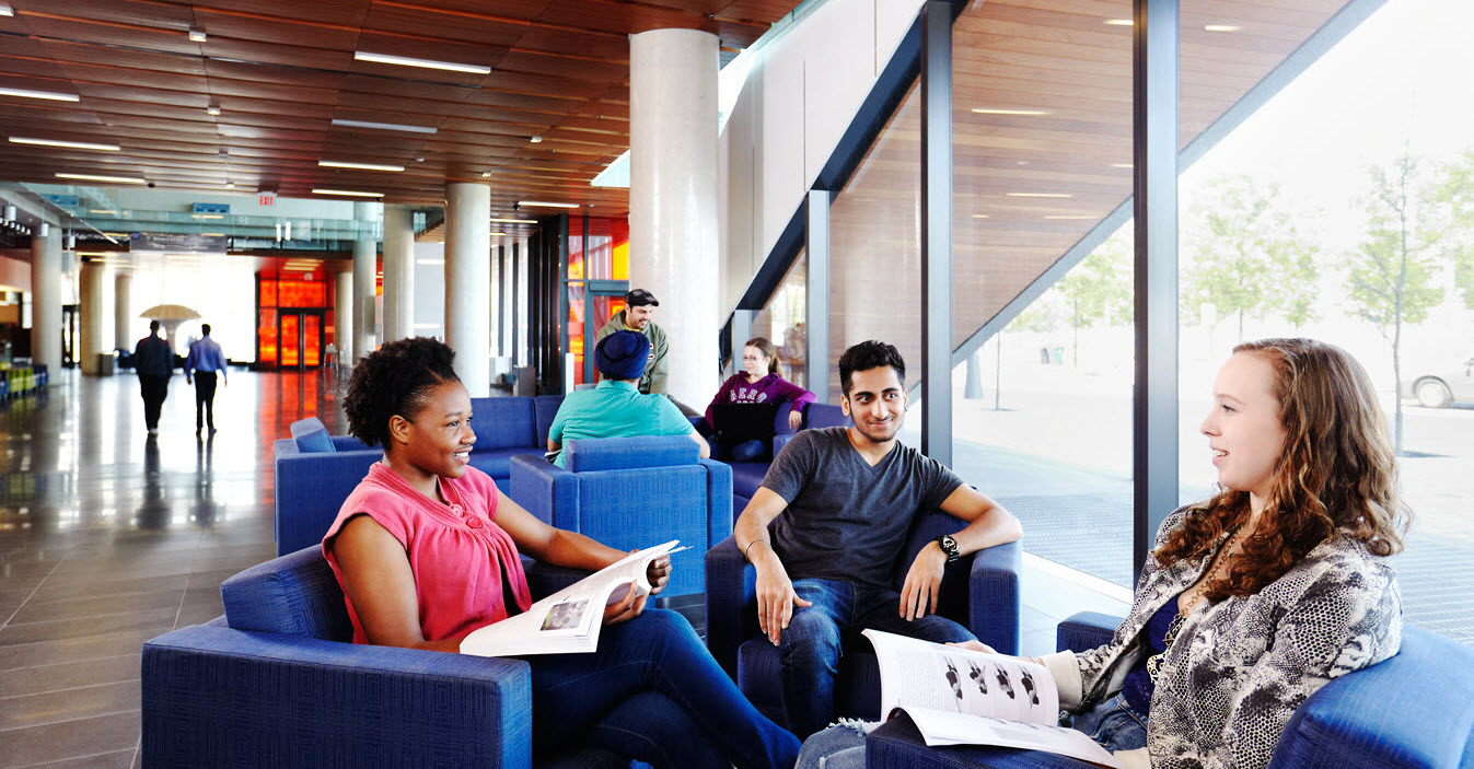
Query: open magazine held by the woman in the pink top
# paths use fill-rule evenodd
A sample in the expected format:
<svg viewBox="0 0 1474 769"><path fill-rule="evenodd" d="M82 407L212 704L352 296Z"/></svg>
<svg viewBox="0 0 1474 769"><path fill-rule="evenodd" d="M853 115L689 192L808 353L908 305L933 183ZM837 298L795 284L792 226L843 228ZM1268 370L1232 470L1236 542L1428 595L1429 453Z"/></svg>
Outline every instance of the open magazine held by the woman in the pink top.
<svg viewBox="0 0 1474 769"><path fill-rule="evenodd" d="M680 552L678 541L631 552L619 563L578 580L532 604L526 611L472 631L461 654L513 657L522 654L576 654L598 648L604 607L618 604L634 583L637 597L650 592L650 561Z"/></svg>

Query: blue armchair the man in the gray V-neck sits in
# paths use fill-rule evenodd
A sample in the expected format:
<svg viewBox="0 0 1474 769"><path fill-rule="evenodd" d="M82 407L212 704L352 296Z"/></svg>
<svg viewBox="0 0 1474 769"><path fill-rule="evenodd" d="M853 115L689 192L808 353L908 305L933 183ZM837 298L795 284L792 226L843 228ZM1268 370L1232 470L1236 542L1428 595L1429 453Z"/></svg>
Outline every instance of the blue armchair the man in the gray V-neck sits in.
<svg viewBox="0 0 1474 769"><path fill-rule="evenodd" d="M917 516L902 555L896 560L896 589L917 552L943 533L965 523L942 511ZM1004 654L1019 650L1019 570L1023 551L1017 542L988 548L946 567L937 600L940 614L973 631ZM706 647L737 681L759 710L783 723L778 648L758 628L756 573L733 538L706 554ZM864 638L846 642L834 691L837 716L880 716L880 670Z"/></svg>

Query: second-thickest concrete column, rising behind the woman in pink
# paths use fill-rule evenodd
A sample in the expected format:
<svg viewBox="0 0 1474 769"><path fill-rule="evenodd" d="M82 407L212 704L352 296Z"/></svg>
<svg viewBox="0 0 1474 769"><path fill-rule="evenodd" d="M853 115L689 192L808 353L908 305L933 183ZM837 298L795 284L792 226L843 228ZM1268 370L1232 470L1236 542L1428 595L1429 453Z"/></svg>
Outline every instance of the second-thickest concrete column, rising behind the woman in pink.
<svg viewBox="0 0 1474 769"><path fill-rule="evenodd" d="M445 343L472 398L491 395L491 187L445 186Z"/></svg>

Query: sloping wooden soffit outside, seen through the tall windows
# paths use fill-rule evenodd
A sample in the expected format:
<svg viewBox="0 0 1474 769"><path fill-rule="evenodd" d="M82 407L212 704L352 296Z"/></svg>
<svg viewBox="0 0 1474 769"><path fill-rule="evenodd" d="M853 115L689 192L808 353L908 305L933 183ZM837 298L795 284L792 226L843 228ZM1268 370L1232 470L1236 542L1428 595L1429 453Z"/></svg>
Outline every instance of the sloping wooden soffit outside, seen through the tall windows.
<svg viewBox="0 0 1474 769"><path fill-rule="evenodd" d="M1182 146L1343 6L1182 0ZM986 0L957 21L954 346L1131 196L1132 28L1107 24L1129 18L1129 0ZM912 88L836 197L834 274L849 275L830 298L836 355L881 337L920 359L920 119ZM881 306L887 311L877 312Z"/></svg>

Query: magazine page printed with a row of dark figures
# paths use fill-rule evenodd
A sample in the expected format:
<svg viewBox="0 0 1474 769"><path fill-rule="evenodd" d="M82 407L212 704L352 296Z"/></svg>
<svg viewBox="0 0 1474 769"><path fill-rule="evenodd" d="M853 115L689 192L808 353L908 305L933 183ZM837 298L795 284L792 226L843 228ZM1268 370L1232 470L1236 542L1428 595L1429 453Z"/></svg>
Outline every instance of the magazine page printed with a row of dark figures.
<svg viewBox="0 0 1474 769"><path fill-rule="evenodd" d="M881 713L924 707L1045 726L1060 720L1060 692L1039 664L880 631L864 635L880 663Z"/></svg>

